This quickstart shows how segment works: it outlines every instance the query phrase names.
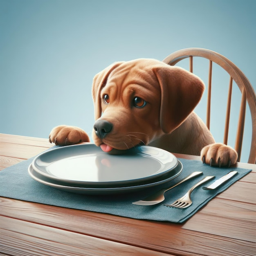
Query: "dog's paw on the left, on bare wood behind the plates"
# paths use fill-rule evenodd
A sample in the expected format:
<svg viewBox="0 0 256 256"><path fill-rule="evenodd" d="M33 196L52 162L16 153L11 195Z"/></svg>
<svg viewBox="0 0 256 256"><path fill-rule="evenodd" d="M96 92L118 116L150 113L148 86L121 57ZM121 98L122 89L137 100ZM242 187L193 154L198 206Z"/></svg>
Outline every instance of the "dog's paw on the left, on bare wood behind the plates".
<svg viewBox="0 0 256 256"><path fill-rule="evenodd" d="M56 126L49 135L49 142L55 145L67 146L80 142L90 142L87 133L75 126Z"/></svg>

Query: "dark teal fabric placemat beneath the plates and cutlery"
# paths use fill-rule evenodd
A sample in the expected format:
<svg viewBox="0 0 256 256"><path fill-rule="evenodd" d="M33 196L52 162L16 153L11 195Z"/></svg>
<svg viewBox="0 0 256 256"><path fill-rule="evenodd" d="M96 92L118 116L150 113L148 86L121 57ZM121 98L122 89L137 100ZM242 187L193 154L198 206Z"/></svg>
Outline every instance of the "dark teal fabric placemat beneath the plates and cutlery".
<svg viewBox="0 0 256 256"><path fill-rule="evenodd" d="M189 219L201 207L207 204L209 200L252 171L237 167L210 167L206 164L202 164L201 161L179 159L183 164L182 173L170 182L160 186L148 188L134 193L117 195L81 195L61 191L33 180L28 174L28 167L33 159L34 157L0 171L0 196L37 202L41 204L49 204L58 207L110 213L113 215L135 219L168 221L176 223L182 223ZM202 189L202 186L211 184L215 180L233 170L238 171L238 174L220 186L219 189L212 191ZM141 200L147 195L150 195L154 191L157 191L163 187L173 186L193 171L202 171L203 175L195 177L192 180L184 182L170 191L167 191L165 193L166 199L164 202L153 206L139 206L132 204L132 202ZM191 199L193 204L190 207L186 209L176 209L164 206L164 204L173 203L176 199L184 195L184 193L186 193L191 186L208 175L214 175L216 177L204 185L196 188L192 192Z"/></svg>

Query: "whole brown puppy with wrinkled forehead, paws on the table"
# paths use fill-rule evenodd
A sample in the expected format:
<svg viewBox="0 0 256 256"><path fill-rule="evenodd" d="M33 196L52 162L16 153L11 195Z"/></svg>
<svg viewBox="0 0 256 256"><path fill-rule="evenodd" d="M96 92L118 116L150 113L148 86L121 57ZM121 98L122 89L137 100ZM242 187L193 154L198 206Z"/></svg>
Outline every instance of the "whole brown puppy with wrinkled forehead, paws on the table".
<svg viewBox="0 0 256 256"><path fill-rule="evenodd" d="M193 112L203 91L201 79L181 67L154 59L114 63L93 80L94 143L110 153L142 144L173 153L201 153L202 161L211 165L235 164L236 151L215 143ZM57 126L49 141L70 145L89 137L80 128Z"/></svg>

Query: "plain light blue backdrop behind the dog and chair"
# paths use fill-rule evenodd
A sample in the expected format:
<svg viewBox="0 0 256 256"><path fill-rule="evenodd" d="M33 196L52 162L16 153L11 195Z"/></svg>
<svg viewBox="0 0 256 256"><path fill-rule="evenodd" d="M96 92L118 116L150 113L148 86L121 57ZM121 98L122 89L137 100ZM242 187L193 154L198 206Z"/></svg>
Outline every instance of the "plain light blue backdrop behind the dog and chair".
<svg viewBox="0 0 256 256"><path fill-rule="evenodd" d="M0 0L0 132L47 138L54 126L67 124L91 135L91 85L97 72L115 61L163 60L189 47L223 54L256 90L255 9L255 0ZM207 69L208 63L200 61L194 68L206 83ZM218 106L211 132L222 141L229 78L218 67L213 72L219 80L213 81ZM204 121L206 94L196 108ZM240 92L234 90L232 110L239 105ZM236 125L235 115L230 125L234 136ZM229 145L234 146L233 140Z"/></svg>

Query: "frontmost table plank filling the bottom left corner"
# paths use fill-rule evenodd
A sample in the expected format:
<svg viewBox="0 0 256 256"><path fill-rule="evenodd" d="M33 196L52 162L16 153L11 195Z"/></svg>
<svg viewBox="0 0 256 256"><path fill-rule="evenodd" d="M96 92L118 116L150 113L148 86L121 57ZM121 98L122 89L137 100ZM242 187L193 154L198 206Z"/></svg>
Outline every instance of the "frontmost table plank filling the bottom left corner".
<svg viewBox="0 0 256 256"><path fill-rule="evenodd" d="M0 252L29 256L164 256L162 252L0 216Z"/></svg>

